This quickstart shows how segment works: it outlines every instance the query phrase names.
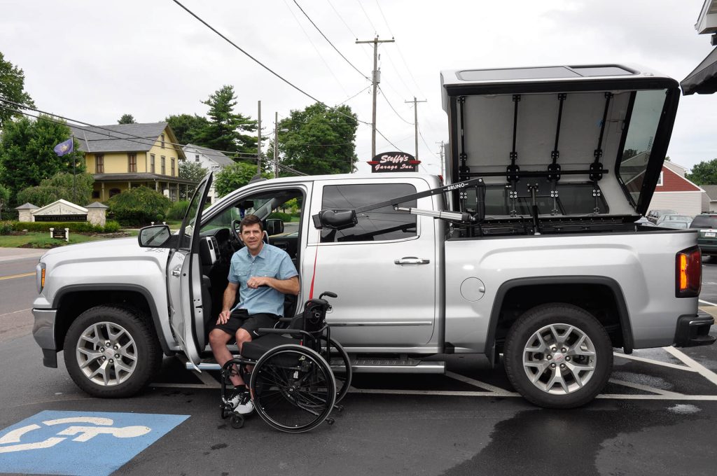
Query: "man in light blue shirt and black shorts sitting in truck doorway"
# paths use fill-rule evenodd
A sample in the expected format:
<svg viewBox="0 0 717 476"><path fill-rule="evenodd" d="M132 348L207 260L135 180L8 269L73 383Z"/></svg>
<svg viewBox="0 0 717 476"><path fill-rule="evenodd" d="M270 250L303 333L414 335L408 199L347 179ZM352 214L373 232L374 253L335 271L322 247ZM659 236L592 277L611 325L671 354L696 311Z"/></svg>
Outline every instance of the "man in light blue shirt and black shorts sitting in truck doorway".
<svg viewBox="0 0 717 476"><path fill-rule="evenodd" d="M244 247L232 256L229 284L224 290L222 312L209 333L209 345L220 366L233 358L227 344L236 338L239 353L244 342L252 341L260 328L273 328L284 313L284 295L299 293L299 278L289 255L263 241L262 221L256 215L244 216L239 237ZM239 303L234 305L239 291ZM234 307L232 308L232 305ZM234 391L228 399L240 414L254 406L242 376L229 377Z"/></svg>

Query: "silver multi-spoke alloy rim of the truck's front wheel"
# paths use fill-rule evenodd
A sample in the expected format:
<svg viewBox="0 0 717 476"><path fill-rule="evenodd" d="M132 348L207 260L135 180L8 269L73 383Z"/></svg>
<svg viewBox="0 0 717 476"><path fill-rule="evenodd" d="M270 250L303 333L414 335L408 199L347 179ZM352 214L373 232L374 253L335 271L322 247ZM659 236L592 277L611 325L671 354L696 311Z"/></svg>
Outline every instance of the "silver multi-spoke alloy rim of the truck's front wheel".
<svg viewBox="0 0 717 476"><path fill-rule="evenodd" d="M137 366L137 346L132 335L110 322L95 323L83 330L75 355L85 377L102 386L122 384Z"/></svg>

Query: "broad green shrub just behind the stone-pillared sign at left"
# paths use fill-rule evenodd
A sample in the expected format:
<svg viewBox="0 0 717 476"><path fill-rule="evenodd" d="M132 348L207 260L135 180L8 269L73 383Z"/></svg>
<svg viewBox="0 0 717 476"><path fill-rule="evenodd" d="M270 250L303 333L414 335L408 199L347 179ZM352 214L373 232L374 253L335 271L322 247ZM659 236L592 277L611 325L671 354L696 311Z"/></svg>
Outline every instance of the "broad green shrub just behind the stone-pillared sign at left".
<svg viewBox="0 0 717 476"><path fill-rule="evenodd" d="M64 199L84 206L92 201L93 184L95 178L91 173L77 173L73 177L72 173L58 172L45 178L38 186L17 192L16 200L18 204L30 203L42 207Z"/></svg>

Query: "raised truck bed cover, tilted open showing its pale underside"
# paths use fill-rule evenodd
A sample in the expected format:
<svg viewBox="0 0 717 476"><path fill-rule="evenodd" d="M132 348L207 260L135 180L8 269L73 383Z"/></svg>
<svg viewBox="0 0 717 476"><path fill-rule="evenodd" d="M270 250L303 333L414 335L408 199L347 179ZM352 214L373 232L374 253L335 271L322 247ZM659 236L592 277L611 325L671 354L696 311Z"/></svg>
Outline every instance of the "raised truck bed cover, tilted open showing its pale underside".
<svg viewBox="0 0 717 476"><path fill-rule="evenodd" d="M447 70L441 82L447 184L483 178L486 219L622 220L647 211L675 120L675 80L584 65ZM452 196L456 210L475 201Z"/></svg>

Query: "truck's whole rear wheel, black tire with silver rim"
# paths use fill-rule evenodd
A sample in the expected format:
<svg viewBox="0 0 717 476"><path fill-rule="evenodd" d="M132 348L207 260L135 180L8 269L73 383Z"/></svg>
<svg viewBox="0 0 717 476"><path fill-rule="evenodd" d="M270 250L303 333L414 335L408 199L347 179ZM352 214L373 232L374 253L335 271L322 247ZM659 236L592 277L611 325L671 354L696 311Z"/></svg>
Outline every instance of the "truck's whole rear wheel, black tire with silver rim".
<svg viewBox="0 0 717 476"><path fill-rule="evenodd" d="M602 391L612 371L612 343L602 324L574 305L526 311L511 327L505 373L525 399L546 408L582 406Z"/></svg>

